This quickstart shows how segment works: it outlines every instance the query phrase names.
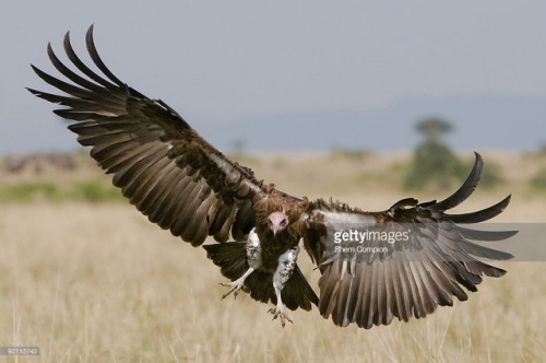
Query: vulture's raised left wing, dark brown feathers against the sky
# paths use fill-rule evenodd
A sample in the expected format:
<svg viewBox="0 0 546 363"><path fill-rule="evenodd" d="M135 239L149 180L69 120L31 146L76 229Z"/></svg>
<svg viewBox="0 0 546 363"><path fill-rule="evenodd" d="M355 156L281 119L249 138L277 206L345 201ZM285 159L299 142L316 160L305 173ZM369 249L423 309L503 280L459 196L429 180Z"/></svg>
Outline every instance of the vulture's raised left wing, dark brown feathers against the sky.
<svg viewBox="0 0 546 363"><path fill-rule="evenodd" d="M102 75L76 56L67 33L64 51L80 74L50 45L49 59L71 82L33 69L68 95L28 91L66 106L55 113L75 121L69 129L78 141L92 147L91 156L114 174L114 184L150 221L194 246L207 235L225 242L229 232L244 239L254 223L252 198L261 192L252 172L227 160L165 103L116 78L97 54L93 26L86 45Z"/></svg>

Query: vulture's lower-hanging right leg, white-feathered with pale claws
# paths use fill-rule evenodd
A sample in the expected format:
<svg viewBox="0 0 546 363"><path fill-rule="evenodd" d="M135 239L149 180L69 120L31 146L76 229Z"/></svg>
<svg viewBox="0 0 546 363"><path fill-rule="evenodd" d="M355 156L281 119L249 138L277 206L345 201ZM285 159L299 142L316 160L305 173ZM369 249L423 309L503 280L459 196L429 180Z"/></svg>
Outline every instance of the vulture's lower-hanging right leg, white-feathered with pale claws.
<svg viewBox="0 0 546 363"><path fill-rule="evenodd" d="M278 266L275 273L273 274L273 289L275 289L276 306L270 308L269 313L273 314L273 320L277 317L281 318L281 325L283 326L283 328L286 324L286 320L290 323L293 321L285 313L286 306L283 304L281 291L294 273L298 254L299 247L295 246L294 248L288 249L286 253L281 255L281 257L278 257Z"/></svg>

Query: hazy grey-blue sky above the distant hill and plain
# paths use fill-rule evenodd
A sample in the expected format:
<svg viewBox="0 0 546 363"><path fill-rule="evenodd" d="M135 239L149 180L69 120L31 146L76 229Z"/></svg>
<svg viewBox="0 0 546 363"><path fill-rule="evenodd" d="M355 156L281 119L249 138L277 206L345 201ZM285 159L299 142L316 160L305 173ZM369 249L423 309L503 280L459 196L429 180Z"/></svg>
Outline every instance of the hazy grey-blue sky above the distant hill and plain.
<svg viewBox="0 0 546 363"><path fill-rule="evenodd" d="M545 15L538 0L4 3L0 153L75 145L52 105L24 86L47 89L28 65L52 70L46 45L61 56L68 30L83 52L92 23L121 80L161 97L198 130L217 130L238 119L366 112L412 97L546 101ZM534 127L521 138L546 134L546 116Z"/></svg>

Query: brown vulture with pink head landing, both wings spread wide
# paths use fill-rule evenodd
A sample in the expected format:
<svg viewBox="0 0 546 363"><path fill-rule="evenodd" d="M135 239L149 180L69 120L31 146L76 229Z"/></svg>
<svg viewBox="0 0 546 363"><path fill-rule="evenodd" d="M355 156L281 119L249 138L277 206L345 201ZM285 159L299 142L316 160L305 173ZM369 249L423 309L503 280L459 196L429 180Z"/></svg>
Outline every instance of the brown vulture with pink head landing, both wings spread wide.
<svg viewBox="0 0 546 363"><path fill-rule="evenodd" d="M506 273L484 258L513 256L485 244L517 231L464 225L501 213L510 196L479 211L448 213L476 188L484 165L478 153L463 185L441 201L406 198L369 212L331 198L295 197L230 161L166 103L114 75L98 56L93 25L86 47L95 70L76 55L70 33L63 48L71 67L49 44L49 60L62 77L32 68L62 94L28 91L62 106L55 114L73 121L68 128L131 204L205 249L229 281L223 297L242 291L272 304L269 313L283 327L292 323L288 309L316 305L336 326L369 329L394 317L425 317L454 297L465 301L483 277ZM300 245L320 273L319 295L298 267Z"/></svg>

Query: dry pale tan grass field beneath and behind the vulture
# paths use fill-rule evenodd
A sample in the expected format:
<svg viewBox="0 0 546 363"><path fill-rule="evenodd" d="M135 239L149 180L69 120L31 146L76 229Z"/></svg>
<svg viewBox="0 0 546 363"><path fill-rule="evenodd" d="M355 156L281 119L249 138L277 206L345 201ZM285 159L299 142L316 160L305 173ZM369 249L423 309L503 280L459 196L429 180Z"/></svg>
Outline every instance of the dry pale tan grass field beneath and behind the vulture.
<svg viewBox="0 0 546 363"><path fill-rule="evenodd" d="M497 221L545 222L546 197L525 180L545 160L485 154L507 183L477 189L460 211L512 192ZM259 177L310 198L332 195L364 209L407 192L395 172L404 155L299 155L242 160ZM325 167L325 168L319 168ZM324 173L323 171L329 171ZM393 172L394 171L394 172ZM80 175L98 177L93 172ZM62 185L72 176L44 172ZM17 178L2 176L13 183ZM5 182L7 183L7 182ZM0 187L2 185L0 184ZM442 198L446 191L418 197ZM517 241L514 242L517 243ZM221 301L225 282L202 248L192 248L128 203L37 200L0 204L0 346L35 346L20 362L538 362L546 359L544 262L498 264L465 303L426 319L370 330L337 328L317 309L292 312L284 329L269 306L240 294ZM307 276L313 271L300 255ZM0 359L3 359L0 356Z"/></svg>

